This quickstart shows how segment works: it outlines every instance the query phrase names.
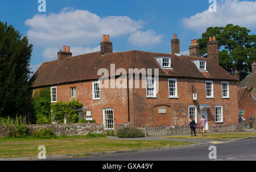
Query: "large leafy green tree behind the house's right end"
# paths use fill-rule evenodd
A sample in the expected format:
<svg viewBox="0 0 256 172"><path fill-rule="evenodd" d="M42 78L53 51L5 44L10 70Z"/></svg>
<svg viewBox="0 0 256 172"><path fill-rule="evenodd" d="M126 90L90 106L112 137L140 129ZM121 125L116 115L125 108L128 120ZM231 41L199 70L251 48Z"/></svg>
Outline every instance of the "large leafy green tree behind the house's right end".
<svg viewBox="0 0 256 172"><path fill-rule="evenodd" d="M240 79L251 72L251 63L256 59L256 35L249 35L250 30L239 25L228 24L226 27L209 27L197 40L200 55L207 57L207 42L210 36L216 36L219 45L219 63L230 74L237 69Z"/></svg>

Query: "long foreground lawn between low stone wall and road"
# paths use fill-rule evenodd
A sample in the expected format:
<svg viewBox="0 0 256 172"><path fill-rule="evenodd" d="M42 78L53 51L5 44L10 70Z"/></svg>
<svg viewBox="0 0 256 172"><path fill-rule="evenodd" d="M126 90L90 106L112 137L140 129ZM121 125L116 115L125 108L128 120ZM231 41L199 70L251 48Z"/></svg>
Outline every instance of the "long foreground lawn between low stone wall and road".
<svg viewBox="0 0 256 172"><path fill-rule="evenodd" d="M18 143L18 142L16 142ZM194 144L187 141L141 141L141 140L84 140L66 141L63 139L48 142L27 144L2 144L0 145L0 158L35 157L38 156L38 147L46 147L46 156L61 154L79 154L106 151L124 151L131 149L160 148L177 145Z"/></svg>

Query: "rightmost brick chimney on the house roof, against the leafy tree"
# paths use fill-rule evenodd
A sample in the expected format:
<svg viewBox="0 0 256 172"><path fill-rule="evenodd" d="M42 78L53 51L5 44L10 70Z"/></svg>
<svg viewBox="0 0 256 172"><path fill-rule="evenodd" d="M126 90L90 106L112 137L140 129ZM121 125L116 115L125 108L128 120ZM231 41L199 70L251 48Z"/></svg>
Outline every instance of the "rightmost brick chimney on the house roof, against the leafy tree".
<svg viewBox="0 0 256 172"><path fill-rule="evenodd" d="M216 59L218 63L218 41L216 41L215 36L209 38L207 43L207 57Z"/></svg>

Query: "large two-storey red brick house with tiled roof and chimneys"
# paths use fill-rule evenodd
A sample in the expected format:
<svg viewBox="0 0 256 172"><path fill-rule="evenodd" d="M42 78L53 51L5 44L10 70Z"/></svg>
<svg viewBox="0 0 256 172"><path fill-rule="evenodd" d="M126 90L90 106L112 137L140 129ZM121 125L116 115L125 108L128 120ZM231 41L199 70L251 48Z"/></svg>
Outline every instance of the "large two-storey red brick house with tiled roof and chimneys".
<svg viewBox="0 0 256 172"><path fill-rule="evenodd" d="M89 115L108 129L127 122L136 127L182 126L191 115L196 121L205 115L208 124L238 123L238 78L218 65L218 42L210 37L207 58L200 57L196 40L191 44L189 55L180 55L180 41L174 35L170 54L138 50L113 53L113 44L104 35L101 51L95 53L72 57L69 47L66 51L64 46L57 60L40 66L30 88L35 94L51 87L52 103L79 100L84 106L77 110L80 117ZM109 83L98 81L102 68L109 71L105 77ZM130 78L122 77L122 72L117 72L120 68L127 74L129 69L138 70ZM158 76L143 79L143 69L157 69ZM136 74L140 74L139 80ZM127 87L111 87L115 82ZM136 88L138 83L141 87Z"/></svg>

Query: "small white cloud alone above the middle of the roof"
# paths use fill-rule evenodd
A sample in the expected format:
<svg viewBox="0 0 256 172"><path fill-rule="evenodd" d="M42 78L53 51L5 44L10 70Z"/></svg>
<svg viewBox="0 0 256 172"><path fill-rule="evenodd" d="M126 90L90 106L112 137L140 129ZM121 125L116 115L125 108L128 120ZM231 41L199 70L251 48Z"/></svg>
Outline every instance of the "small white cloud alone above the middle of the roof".
<svg viewBox="0 0 256 172"><path fill-rule="evenodd" d="M130 44L137 46L154 45L162 42L163 35L156 35L153 30L148 30L146 32L137 31L130 35Z"/></svg>

